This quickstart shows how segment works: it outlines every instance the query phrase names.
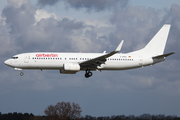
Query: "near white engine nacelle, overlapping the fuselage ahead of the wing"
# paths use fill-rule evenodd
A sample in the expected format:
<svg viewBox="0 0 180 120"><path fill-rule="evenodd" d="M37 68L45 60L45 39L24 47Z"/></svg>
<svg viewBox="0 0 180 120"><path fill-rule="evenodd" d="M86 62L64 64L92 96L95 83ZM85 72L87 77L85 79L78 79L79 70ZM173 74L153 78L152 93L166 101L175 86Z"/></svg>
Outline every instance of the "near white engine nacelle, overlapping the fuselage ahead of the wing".
<svg viewBox="0 0 180 120"><path fill-rule="evenodd" d="M65 63L63 68L64 71L80 71L80 65L78 63Z"/></svg>

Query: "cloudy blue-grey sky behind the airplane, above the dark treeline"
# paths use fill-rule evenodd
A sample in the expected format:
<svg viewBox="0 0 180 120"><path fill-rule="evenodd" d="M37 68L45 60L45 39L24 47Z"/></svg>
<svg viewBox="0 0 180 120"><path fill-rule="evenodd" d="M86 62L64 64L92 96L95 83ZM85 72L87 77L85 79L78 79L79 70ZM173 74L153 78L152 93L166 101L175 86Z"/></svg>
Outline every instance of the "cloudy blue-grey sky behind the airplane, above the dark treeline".
<svg viewBox="0 0 180 120"><path fill-rule="evenodd" d="M44 115L48 105L74 102L82 116L180 116L179 0L3 0L0 2L0 112ZM25 52L113 51L143 48L171 24L164 62L125 71L60 74L15 71L4 64Z"/></svg>

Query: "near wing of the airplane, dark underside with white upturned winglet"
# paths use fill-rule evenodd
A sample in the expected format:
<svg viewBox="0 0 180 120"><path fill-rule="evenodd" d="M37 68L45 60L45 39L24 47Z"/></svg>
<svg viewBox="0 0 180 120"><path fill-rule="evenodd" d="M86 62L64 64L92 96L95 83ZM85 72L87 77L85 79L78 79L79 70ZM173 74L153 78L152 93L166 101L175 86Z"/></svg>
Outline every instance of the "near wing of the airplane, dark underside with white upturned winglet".
<svg viewBox="0 0 180 120"><path fill-rule="evenodd" d="M101 66L101 64L105 64L106 58L118 53L121 50L121 47L123 45L124 40L121 41L121 43L118 45L118 47L105 55L93 58L91 60L80 62L79 65L81 66L81 69L97 69L98 66Z"/></svg>

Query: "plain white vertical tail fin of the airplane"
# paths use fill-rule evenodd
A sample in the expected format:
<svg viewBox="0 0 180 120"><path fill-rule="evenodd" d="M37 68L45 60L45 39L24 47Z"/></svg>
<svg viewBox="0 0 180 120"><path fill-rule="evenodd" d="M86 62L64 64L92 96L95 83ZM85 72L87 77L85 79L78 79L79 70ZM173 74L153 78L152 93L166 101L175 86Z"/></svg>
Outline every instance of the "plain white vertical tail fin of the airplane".
<svg viewBox="0 0 180 120"><path fill-rule="evenodd" d="M170 27L171 25L165 24L143 49L131 52L130 54L148 54L151 56L162 55L164 53Z"/></svg>

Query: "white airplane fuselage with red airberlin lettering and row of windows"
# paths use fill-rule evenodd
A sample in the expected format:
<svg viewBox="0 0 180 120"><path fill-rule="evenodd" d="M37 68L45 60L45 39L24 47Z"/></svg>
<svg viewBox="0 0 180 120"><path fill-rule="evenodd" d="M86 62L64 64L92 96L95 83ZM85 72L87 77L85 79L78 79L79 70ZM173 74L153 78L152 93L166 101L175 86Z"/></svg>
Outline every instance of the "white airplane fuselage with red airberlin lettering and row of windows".
<svg viewBox="0 0 180 120"><path fill-rule="evenodd" d="M62 70L65 63L80 63L105 53L23 53L5 61L17 69L54 69ZM164 59L154 61L151 57L115 54L106 58L105 64L94 70L125 70L152 65Z"/></svg>

